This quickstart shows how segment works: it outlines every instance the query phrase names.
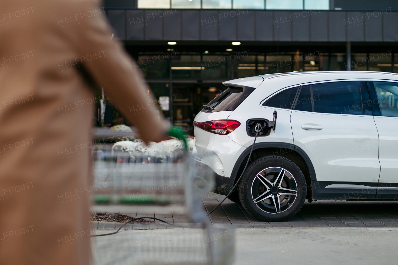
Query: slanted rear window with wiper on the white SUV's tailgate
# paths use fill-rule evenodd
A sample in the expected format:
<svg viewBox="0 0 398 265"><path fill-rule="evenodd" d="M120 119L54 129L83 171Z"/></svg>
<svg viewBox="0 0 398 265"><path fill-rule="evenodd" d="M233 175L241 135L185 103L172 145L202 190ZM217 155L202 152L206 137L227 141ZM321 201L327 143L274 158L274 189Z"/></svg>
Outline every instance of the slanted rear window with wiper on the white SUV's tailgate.
<svg viewBox="0 0 398 265"><path fill-rule="evenodd" d="M243 88L228 87L220 95L203 106L203 112L233 111L242 103L256 88L245 86Z"/></svg>

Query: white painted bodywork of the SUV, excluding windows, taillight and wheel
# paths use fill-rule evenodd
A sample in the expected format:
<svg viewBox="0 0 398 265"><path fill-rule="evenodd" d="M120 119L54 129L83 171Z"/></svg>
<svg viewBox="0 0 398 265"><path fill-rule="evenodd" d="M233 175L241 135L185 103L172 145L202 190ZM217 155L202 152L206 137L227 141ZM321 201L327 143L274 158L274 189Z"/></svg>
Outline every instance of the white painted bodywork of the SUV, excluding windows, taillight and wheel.
<svg viewBox="0 0 398 265"><path fill-rule="evenodd" d="M254 137L246 132L246 121L271 121L276 110L275 132L271 130L268 136L258 137L256 146L272 147L279 144L299 148L303 153L301 156L306 156L313 165L311 177L312 186L316 189L312 191L314 199L375 199L377 185L380 187L385 183L390 183L391 189L385 192L389 193L389 198L398 198L398 118L313 113L261 106L267 97L300 84L369 78L398 81L398 74L331 71L269 74L261 78L263 81L251 77L224 82L227 86L257 88L234 111L201 112L195 117L195 121L199 122L233 119L241 123L227 135L217 135L195 127L193 149L196 154L201 152L201 158L198 158L202 162L219 175L230 177L232 174L232 177L236 177L235 171L242 163L242 157L248 154L254 142ZM301 127L304 124L322 125L322 129L304 130ZM395 188L394 191L392 188ZM380 192L382 195L385 190L387 188L381 188L377 194Z"/></svg>

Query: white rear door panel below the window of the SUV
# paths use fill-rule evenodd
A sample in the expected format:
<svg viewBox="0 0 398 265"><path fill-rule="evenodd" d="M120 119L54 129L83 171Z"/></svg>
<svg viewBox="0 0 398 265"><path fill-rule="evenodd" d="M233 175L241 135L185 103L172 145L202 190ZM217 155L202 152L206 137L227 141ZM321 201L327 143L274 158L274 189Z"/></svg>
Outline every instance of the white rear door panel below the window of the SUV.
<svg viewBox="0 0 398 265"><path fill-rule="evenodd" d="M302 129L304 124L323 129ZM317 181L377 183L378 133L372 116L292 111L295 145L309 156Z"/></svg>

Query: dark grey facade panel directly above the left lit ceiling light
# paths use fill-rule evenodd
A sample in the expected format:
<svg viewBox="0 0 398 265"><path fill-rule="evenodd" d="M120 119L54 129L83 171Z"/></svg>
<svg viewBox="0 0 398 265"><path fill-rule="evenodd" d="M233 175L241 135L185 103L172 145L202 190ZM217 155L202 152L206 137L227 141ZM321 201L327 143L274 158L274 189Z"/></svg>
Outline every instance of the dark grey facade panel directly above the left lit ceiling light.
<svg viewBox="0 0 398 265"><path fill-rule="evenodd" d="M174 41L181 39L181 11L164 10L163 16L163 39ZM161 15L161 14L160 14Z"/></svg>

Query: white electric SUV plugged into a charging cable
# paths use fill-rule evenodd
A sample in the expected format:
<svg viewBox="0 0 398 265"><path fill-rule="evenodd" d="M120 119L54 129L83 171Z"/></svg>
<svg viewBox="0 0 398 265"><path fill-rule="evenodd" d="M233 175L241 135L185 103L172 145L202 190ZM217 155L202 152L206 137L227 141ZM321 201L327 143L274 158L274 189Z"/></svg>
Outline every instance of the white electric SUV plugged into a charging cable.
<svg viewBox="0 0 398 265"><path fill-rule="evenodd" d="M398 74L298 72L223 84L194 121L192 156L217 174L216 193L228 194L242 174L260 123L229 197L256 218L285 220L305 199L398 199Z"/></svg>

